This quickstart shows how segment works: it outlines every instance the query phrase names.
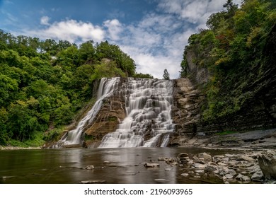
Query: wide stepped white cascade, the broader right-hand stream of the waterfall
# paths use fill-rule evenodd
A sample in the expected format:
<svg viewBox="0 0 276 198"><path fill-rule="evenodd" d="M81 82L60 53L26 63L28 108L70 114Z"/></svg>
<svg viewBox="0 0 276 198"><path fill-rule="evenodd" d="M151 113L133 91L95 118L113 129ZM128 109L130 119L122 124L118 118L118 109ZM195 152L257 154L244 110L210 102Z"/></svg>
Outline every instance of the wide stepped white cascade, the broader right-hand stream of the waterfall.
<svg viewBox="0 0 276 198"><path fill-rule="evenodd" d="M127 117L115 132L103 137L99 147L167 146L169 134L174 130L171 119L173 83L128 78L120 93L126 98Z"/></svg>

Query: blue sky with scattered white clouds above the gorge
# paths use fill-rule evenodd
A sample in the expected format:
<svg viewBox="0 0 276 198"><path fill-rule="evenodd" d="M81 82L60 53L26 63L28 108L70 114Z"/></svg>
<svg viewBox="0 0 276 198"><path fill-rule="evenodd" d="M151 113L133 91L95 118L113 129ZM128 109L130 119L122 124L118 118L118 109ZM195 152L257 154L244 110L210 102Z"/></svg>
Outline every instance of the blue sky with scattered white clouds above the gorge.
<svg viewBox="0 0 276 198"><path fill-rule="evenodd" d="M130 55L137 73L178 78L188 37L226 0L0 0L0 29L77 45L107 40ZM234 0L240 4L241 0Z"/></svg>

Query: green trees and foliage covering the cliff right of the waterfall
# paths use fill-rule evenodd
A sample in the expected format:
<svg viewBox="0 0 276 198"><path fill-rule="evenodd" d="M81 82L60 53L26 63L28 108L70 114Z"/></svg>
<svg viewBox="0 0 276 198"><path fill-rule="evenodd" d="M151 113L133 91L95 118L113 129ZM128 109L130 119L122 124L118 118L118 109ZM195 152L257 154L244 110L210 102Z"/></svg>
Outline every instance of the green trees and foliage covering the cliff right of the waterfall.
<svg viewBox="0 0 276 198"><path fill-rule="evenodd" d="M190 36L180 73L189 76L191 51L192 62L209 72L204 85L207 103L202 107L205 120L231 116L258 92L252 85L269 71L263 52L275 22L276 1L244 0L238 7L227 0L224 11L209 17L208 29Z"/></svg>

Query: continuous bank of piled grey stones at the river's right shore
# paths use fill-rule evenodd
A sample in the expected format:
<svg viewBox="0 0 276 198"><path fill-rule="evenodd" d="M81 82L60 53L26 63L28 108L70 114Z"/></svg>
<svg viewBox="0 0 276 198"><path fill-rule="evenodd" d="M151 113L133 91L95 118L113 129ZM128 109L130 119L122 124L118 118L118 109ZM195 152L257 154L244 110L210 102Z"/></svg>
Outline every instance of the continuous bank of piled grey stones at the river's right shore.
<svg viewBox="0 0 276 198"><path fill-rule="evenodd" d="M272 150L219 156L179 153L176 158L160 157L158 160L177 165L180 175L190 179L213 178L224 183L276 183L276 152Z"/></svg>

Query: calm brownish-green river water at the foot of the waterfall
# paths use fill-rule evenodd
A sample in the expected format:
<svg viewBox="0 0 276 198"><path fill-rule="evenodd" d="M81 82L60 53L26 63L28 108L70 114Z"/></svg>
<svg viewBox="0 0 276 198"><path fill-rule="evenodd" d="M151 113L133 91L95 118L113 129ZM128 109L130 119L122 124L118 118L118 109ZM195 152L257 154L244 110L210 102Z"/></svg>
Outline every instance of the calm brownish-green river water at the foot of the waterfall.
<svg viewBox="0 0 276 198"><path fill-rule="evenodd" d="M202 148L61 148L0 151L0 183L55 184L105 180L105 183L221 183L209 178L185 178L185 169L157 161L178 153L212 155L233 153ZM110 163L104 163L109 161ZM145 168L144 162L159 163L159 168ZM94 165L93 170L86 170ZM188 171L188 170L187 170Z"/></svg>

